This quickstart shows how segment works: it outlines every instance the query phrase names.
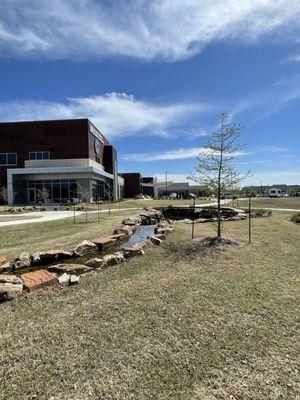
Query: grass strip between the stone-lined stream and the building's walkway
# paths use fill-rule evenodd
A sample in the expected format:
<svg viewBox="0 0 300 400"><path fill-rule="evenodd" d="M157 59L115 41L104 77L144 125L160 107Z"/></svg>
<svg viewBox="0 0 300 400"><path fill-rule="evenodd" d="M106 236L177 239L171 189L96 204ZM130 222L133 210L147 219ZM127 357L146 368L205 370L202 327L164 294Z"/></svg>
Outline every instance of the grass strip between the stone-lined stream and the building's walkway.
<svg viewBox="0 0 300 400"><path fill-rule="evenodd" d="M69 249L84 239L93 239L101 235L111 234L112 230L129 215L138 215L140 211L122 211L100 215L85 214L58 221L38 222L25 225L0 227L0 255L14 257L22 251L36 252L50 249Z"/></svg>

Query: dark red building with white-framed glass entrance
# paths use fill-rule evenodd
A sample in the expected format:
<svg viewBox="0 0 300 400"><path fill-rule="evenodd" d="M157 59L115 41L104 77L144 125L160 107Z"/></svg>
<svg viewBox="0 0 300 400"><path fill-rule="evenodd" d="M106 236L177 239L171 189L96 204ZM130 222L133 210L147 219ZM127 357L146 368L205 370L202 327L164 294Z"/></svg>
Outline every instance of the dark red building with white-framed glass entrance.
<svg viewBox="0 0 300 400"><path fill-rule="evenodd" d="M88 119L0 123L0 185L10 203L122 197L115 148ZM12 196L12 193L16 193ZM14 197L14 198L13 198Z"/></svg>

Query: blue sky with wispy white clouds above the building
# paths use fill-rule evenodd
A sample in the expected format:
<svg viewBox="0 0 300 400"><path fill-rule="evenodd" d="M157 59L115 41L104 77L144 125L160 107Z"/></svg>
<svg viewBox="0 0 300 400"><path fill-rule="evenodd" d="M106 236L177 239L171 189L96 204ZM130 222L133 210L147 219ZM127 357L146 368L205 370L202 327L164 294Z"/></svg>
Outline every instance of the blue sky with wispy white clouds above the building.
<svg viewBox="0 0 300 400"><path fill-rule="evenodd" d="M2 0L0 120L88 117L120 170L185 180L221 112L247 184L300 183L297 0Z"/></svg>

